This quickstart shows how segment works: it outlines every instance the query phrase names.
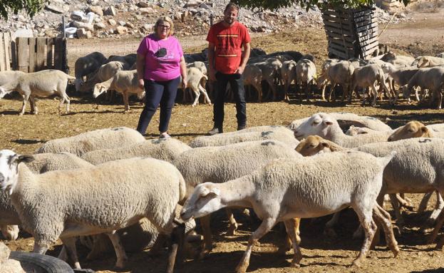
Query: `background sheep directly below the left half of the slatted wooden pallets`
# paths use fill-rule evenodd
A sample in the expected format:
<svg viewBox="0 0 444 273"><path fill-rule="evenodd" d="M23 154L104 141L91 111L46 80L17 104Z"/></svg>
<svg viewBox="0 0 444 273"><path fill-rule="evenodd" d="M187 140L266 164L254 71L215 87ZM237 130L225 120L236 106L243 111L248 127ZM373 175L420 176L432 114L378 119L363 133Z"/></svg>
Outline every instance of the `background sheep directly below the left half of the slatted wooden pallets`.
<svg viewBox="0 0 444 273"><path fill-rule="evenodd" d="M326 68L324 74L319 76L318 88L323 88L327 82L331 83L331 89L329 93L329 99L331 100L331 94L334 91L336 84L340 84L343 89L342 101L347 96L351 83L351 75L353 74L354 66L349 61L337 61L331 62L330 66Z"/></svg>

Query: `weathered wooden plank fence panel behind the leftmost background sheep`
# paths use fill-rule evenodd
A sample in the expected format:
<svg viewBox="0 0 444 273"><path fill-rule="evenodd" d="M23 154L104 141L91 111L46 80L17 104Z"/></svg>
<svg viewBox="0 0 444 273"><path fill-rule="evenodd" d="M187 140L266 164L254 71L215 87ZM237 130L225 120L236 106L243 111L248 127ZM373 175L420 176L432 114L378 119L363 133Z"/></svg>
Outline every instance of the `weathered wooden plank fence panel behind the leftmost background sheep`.
<svg viewBox="0 0 444 273"><path fill-rule="evenodd" d="M26 73L44 69L68 72L66 38L16 38L16 66Z"/></svg>

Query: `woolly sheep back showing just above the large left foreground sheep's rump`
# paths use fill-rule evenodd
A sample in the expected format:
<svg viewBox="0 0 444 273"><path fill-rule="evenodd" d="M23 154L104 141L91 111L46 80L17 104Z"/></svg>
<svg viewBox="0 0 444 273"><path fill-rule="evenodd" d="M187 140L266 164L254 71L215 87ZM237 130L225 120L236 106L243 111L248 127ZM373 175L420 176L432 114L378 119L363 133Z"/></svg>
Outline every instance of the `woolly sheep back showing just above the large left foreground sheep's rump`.
<svg viewBox="0 0 444 273"><path fill-rule="evenodd" d="M174 138L162 138L145 140L133 145L124 146L122 148L112 148L104 150L93 150L82 155L82 159L93 165L98 165L111 160L120 160L125 158L135 158L140 156L148 156L159 160L172 162L177 156L186 150L190 150L190 146L182 143Z"/></svg>

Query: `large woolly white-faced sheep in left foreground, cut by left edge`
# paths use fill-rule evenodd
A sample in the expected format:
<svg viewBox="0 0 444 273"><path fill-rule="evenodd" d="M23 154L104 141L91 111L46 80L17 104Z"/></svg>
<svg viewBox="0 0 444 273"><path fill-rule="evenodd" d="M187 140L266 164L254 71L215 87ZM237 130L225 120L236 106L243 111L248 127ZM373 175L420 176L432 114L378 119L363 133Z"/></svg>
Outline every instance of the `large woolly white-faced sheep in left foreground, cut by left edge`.
<svg viewBox="0 0 444 273"><path fill-rule="evenodd" d="M76 236L107 232L118 252L116 266L123 267L127 258L115 230L142 217L162 234L177 230L175 209L185 197L185 182L170 163L131 158L34 175L21 164L32 156L11 150L0 154L1 190L8 192L22 225L33 235L33 252L44 254L60 237L75 267L80 268Z"/></svg>

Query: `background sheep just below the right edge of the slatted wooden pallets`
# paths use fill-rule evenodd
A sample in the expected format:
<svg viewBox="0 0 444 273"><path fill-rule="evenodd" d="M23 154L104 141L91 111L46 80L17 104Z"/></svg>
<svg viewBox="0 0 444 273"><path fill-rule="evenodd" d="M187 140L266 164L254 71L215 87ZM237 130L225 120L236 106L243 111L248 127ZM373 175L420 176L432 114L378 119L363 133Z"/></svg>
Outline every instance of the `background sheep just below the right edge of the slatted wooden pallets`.
<svg viewBox="0 0 444 273"><path fill-rule="evenodd" d="M351 95L357 86L361 88L369 87L372 91L373 101L371 103L372 106L376 105L376 98L378 97L378 91L376 91L375 84L379 82L386 91L386 94L390 96L390 91L388 91L388 87L386 86L386 76L381 67L377 64L371 63L366 66L361 66L355 68L353 71L353 75L351 78L351 88L349 93L349 103L351 103ZM366 93L364 93L364 98L362 101L362 105L364 105L366 101Z"/></svg>

